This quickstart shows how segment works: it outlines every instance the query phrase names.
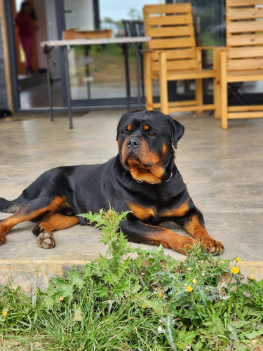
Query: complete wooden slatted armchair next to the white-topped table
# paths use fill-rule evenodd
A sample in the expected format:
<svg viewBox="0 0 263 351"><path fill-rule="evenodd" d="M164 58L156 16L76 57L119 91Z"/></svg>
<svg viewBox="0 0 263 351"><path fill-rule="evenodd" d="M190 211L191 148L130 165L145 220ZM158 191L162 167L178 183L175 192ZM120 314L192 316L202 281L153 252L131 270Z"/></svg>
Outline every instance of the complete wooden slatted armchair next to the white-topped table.
<svg viewBox="0 0 263 351"><path fill-rule="evenodd" d="M203 105L203 79L213 78L219 90L217 75L219 57L213 55L213 69L203 69L202 50L196 47L191 4L145 5L144 33L151 37L144 52L144 81L147 110L161 112L215 110L217 104ZM160 103L153 101L152 79L159 79ZM195 100L168 102L168 81L195 79ZM215 96L219 96L218 93Z"/></svg>

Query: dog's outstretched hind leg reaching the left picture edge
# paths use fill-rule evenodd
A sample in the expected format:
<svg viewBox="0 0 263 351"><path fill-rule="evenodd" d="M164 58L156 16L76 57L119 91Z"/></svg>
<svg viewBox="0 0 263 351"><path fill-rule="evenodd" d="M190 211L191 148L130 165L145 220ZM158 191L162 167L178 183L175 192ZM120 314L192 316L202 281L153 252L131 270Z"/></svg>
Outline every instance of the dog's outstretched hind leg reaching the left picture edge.
<svg viewBox="0 0 263 351"><path fill-rule="evenodd" d="M42 198L32 200L28 204L22 204L18 211L13 213L12 216L0 222L0 245L4 244L6 241L6 234L15 227L15 225L25 222L26 220L34 220L34 218L41 217L45 213L55 212L63 204L65 204L64 197L55 197L48 204L44 204Z"/></svg>

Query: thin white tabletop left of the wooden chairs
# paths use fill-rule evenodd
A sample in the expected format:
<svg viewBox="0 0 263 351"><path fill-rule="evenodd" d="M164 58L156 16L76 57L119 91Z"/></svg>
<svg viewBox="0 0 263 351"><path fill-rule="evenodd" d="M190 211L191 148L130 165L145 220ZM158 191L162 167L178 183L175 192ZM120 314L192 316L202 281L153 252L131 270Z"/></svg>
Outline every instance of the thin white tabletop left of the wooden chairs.
<svg viewBox="0 0 263 351"><path fill-rule="evenodd" d="M150 37L118 37L101 39L73 39L41 41L40 46L75 46L75 45L100 45L100 44L133 44L146 43Z"/></svg>

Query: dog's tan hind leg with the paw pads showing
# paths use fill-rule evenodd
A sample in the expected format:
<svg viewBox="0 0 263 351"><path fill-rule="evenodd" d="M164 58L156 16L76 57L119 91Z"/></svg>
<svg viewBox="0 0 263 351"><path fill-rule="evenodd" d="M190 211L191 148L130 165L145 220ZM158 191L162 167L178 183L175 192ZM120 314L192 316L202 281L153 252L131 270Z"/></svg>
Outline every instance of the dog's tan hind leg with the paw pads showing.
<svg viewBox="0 0 263 351"><path fill-rule="evenodd" d="M46 216L43 220L46 222L41 222L32 230L36 235L38 246L42 249L53 249L55 246L54 230L67 229L79 223L79 218L76 216L65 216L60 213L50 213L50 216Z"/></svg>

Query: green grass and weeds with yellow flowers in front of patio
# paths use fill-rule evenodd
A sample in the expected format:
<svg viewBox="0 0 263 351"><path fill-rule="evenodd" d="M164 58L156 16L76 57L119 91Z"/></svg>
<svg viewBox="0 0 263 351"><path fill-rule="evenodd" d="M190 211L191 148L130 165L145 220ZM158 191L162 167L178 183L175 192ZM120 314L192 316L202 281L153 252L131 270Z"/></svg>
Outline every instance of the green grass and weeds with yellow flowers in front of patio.
<svg viewBox="0 0 263 351"><path fill-rule="evenodd" d="M178 262L131 249L117 234L126 213L83 216L102 227L107 255L44 293L1 287L1 350L262 350L263 281L243 283L239 258L230 270L196 246Z"/></svg>

